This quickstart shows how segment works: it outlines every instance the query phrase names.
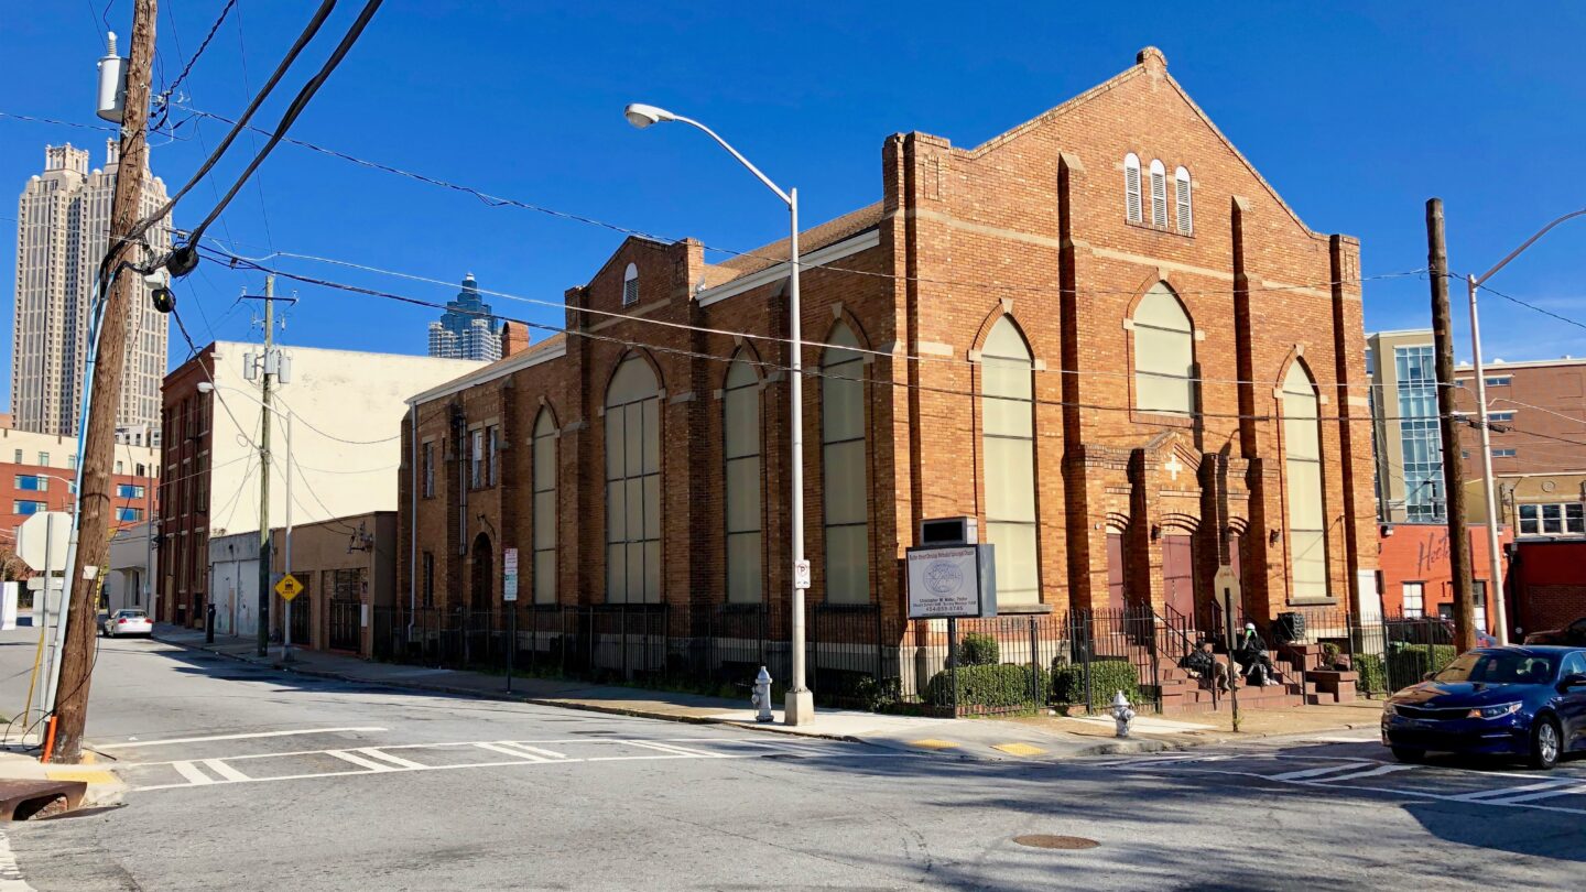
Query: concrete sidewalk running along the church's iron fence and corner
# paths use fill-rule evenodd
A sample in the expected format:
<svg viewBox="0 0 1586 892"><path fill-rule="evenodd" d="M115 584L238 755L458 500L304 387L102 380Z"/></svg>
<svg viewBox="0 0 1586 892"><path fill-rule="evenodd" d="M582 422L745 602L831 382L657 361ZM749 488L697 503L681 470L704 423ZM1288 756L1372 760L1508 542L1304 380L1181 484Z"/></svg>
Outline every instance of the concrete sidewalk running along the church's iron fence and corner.
<svg viewBox="0 0 1586 892"><path fill-rule="evenodd" d="M1161 719L1140 721L1136 725L1134 738L1117 740L1112 732L1112 719L1105 717L1099 722L1096 719L1039 716L1021 719L926 719L852 709L817 709L812 724L788 727L780 724L780 711L776 711L776 722L757 722L755 713L747 703L747 695L744 700L728 700L671 690L522 676L514 678L512 690L508 690L506 678L492 673L379 663L352 656L298 649L292 651L292 663L284 665L281 663L279 644L271 646L268 657L260 657L257 654L257 643L252 640L217 636L213 644L206 644L203 632L163 624L155 625L154 636L168 644L209 651L306 676L676 722L725 724L768 733L847 740L890 749L937 752L969 759L1074 759L1080 756L1158 752L1218 743L1221 740L1220 735L1207 733L1210 729L1186 729L1180 722L1164 722ZM1312 706L1307 709L1321 708ZM1197 717L1196 722L1199 721ZM1321 724L1331 729L1347 727L1337 722L1335 717L1323 719ZM1294 730L1304 732L1315 725L1316 722L1305 722L1305 727L1296 727ZM1251 735L1239 736L1248 738Z"/></svg>

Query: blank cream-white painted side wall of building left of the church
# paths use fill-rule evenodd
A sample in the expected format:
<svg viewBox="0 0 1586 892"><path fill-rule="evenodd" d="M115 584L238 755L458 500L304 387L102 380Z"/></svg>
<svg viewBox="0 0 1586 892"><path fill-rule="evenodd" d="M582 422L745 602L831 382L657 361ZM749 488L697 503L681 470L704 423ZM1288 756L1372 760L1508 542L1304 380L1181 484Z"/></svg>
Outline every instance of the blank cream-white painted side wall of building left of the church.
<svg viewBox="0 0 1586 892"><path fill-rule="evenodd" d="M243 354L259 344L216 344L214 438L209 475L209 535L259 530L259 383L243 376ZM406 398L466 375L484 363L377 352L292 348L292 381L276 387L276 406L297 414L292 522L309 524L368 511L396 509L396 468ZM244 390L238 394L224 387ZM252 397L252 398L249 398ZM233 417L235 416L235 421ZM270 522L285 522L285 425L271 416L274 476Z"/></svg>

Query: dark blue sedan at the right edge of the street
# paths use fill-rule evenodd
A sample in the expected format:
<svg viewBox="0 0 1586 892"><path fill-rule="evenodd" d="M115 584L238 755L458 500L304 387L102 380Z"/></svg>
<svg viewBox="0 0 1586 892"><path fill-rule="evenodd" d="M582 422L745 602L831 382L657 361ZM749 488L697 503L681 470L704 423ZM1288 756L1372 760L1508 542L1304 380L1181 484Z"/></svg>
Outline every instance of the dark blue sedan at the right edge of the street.
<svg viewBox="0 0 1586 892"><path fill-rule="evenodd" d="M1553 768L1586 749L1586 648L1478 648L1383 705L1394 759L1523 756Z"/></svg>

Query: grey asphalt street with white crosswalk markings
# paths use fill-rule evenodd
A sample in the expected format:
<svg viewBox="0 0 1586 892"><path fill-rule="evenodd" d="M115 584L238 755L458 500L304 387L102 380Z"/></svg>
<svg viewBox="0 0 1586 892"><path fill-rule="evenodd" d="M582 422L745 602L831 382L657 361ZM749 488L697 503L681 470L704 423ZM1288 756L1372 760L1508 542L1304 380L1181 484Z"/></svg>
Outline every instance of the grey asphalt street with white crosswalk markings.
<svg viewBox="0 0 1586 892"><path fill-rule="evenodd" d="M0 706L32 657L0 633ZM5 829L33 889L1565 889L1586 860L1586 760L1400 767L1361 732L993 762L105 641L89 736L127 805Z"/></svg>

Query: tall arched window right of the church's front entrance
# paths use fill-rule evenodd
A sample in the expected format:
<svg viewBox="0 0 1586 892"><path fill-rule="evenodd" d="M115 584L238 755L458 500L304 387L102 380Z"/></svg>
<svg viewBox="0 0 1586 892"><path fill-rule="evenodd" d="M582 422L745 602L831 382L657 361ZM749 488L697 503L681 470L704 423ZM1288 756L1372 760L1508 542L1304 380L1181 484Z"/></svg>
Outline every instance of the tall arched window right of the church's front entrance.
<svg viewBox="0 0 1586 892"><path fill-rule="evenodd" d="M1321 419L1316 384L1296 362L1283 378L1283 486L1288 500L1293 597L1327 597L1327 524L1323 509Z"/></svg>

